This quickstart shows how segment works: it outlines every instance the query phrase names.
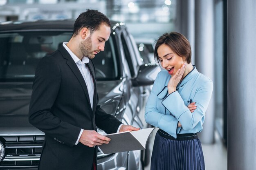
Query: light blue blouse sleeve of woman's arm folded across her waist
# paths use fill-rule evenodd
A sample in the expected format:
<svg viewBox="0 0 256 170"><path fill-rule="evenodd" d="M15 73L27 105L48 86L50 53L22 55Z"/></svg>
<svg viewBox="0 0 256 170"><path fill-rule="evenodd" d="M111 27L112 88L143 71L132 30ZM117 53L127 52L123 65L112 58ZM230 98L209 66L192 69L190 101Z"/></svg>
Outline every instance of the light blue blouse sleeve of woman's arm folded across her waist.
<svg viewBox="0 0 256 170"><path fill-rule="evenodd" d="M160 72L161 73L161 72ZM146 104L145 120L148 124L158 127L173 137L177 137L178 120L172 115L164 115L157 110L157 94L161 88L159 74L155 79L152 91Z"/></svg>

